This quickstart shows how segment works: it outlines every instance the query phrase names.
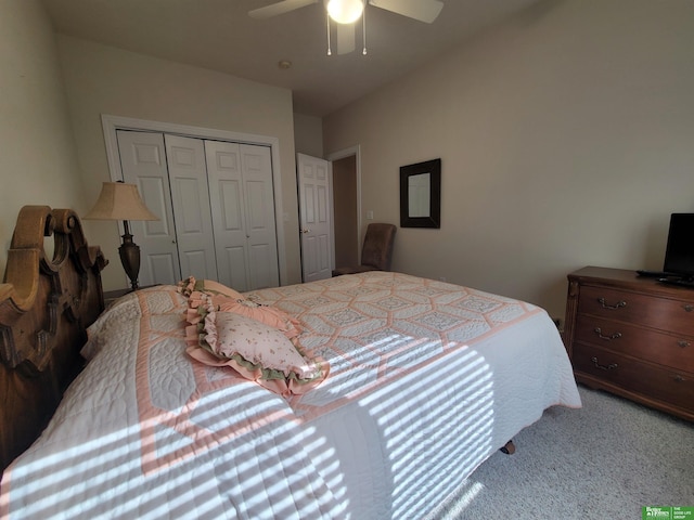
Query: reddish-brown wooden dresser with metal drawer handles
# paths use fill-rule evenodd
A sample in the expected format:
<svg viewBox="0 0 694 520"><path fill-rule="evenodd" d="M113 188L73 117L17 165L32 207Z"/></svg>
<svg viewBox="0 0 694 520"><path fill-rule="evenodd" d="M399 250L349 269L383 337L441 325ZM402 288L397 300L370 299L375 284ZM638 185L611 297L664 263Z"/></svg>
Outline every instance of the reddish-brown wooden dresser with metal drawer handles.
<svg viewBox="0 0 694 520"><path fill-rule="evenodd" d="M694 420L694 289L583 268L568 275L564 344L577 381Z"/></svg>

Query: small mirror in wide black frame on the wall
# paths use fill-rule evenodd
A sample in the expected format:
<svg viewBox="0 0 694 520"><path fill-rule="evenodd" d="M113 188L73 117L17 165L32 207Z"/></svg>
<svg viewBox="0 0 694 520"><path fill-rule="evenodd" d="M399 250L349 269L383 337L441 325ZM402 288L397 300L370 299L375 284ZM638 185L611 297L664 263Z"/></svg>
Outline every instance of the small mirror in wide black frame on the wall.
<svg viewBox="0 0 694 520"><path fill-rule="evenodd" d="M441 159L400 167L400 227L441 226Z"/></svg>

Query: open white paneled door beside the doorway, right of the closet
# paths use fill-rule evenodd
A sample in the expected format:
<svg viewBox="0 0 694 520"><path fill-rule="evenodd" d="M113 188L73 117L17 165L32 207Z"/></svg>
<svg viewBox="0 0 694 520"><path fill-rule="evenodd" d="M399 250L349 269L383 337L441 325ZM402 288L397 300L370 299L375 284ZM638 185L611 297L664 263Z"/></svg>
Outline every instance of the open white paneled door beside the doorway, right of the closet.
<svg viewBox="0 0 694 520"><path fill-rule="evenodd" d="M330 278L333 265L330 162L297 154L301 275L304 282Z"/></svg>

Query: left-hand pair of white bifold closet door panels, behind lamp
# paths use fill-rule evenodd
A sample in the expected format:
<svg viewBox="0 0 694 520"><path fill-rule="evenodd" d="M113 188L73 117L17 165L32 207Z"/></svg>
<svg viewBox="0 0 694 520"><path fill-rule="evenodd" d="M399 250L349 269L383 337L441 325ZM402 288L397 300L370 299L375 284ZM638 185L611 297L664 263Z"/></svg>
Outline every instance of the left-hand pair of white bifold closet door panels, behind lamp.
<svg viewBox="0 0 694 520"><path fill-rule="evenodd" d="M140 285L217 280L205 146L200 139L118 130L125 182L160 220L131 222Z"/></svg>

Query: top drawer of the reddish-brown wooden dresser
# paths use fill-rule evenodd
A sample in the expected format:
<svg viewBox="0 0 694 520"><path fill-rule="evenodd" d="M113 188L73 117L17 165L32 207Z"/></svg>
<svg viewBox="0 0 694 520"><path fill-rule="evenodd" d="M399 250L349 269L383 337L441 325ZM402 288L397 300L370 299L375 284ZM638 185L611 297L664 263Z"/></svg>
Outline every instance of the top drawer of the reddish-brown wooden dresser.
<svg viewBox="0 0 694 520"><path fill-rule="evenodd" d="M694 337L694 299L676 300L583 286L578 301L578 313Z"/></svg>

